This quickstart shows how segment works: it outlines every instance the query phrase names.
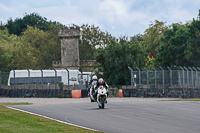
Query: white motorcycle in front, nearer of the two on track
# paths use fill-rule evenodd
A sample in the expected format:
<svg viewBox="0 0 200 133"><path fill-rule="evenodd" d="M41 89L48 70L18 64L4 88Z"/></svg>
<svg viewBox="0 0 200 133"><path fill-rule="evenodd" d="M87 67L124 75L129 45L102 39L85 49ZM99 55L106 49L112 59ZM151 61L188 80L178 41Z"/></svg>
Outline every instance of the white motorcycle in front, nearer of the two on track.
<svg viewBox="0 0 200 133"><path fill-rule="evenodd" d="M100 109L104 109L105 103L107 101L107 90L104 86L99 86L97 90L97 104Z"/></svg>

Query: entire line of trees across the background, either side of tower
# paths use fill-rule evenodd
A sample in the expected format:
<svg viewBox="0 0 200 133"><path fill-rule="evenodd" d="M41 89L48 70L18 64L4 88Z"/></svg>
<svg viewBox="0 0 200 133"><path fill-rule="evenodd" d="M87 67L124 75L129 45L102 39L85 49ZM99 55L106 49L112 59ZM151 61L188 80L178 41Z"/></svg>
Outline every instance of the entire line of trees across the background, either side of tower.
<svg viewBox="0 0 200 133"><path fill-rule="evenodd" d="M73 25L77 26L77 25ZM9 19L0 25L0 70L50 69L60 60L59 22L37 13ZM200 20L186 24L155 20L144 31L115 38L95 25L80 26L80 60L96 60L103 78L112 85L130 84L130 70L152 66L200 66Z"/></svg>

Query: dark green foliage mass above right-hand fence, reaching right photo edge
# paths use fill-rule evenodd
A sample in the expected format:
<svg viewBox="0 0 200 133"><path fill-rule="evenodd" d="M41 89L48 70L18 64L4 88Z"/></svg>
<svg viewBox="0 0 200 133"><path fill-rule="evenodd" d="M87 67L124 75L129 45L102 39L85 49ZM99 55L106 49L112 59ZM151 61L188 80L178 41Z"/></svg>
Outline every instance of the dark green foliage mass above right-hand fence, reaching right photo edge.
<svg viewBox="0 0 200 133"><path fill-rule="evenodd" d="M200 65L200 21L193 20L185 25L173 24L163 34L154 65Z"/></svg>

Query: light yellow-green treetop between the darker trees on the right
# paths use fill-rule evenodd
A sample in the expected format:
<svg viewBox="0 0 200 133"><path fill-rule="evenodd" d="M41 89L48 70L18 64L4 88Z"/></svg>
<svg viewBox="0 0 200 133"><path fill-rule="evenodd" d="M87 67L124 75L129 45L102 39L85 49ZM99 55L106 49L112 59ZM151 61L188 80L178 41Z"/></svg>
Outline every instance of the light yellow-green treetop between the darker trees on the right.
<svg viewBox="0 0 200 133"><path fill-rule="evenodd" d="M145 30L143 35L143 41L141 45L149 53L150 57L156 57L156 48L160 46L160 39L163 36L163 32L167 29L164 22L155 21L155 24L151 23L149 28Z"/></svg>

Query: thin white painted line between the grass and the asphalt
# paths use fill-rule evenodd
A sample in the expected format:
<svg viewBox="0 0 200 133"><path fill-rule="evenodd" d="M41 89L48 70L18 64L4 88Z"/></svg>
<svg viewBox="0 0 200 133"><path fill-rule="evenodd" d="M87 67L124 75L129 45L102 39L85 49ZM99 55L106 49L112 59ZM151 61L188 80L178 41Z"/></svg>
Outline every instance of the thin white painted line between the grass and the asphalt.
<svg viewBox="0 0 200 133"><path fill-rule="evenodd" d="M92 131L98 131L98 130L95 130L95 129L92 129L92 128L79 126L79 125L72 124L72 123L69 123L69 122L64 122L64 121L61 121L61 120L53 119L53 118L50 118L50 117L48 117L48 116L39 115L39 114L32 113L32 112L29 112L29 111L25 111L25 110L22 110L22 109L17 109L17 108L13 108L13 107L9 107L9 106L6 106L6 107L7 107L7 108L10 108L10 109L17 110L17 111L25 112L25 113L28 113L28 114L41 116L41 117L44 117L44 118L47 118L47 119L50 119L50 120L54 120L54 121L57 121L57 122L60 122L60 123L68 124L68 125L71 125L71 126L80 127L80 128L87 129L87 130L92 130Z"/></svg>

